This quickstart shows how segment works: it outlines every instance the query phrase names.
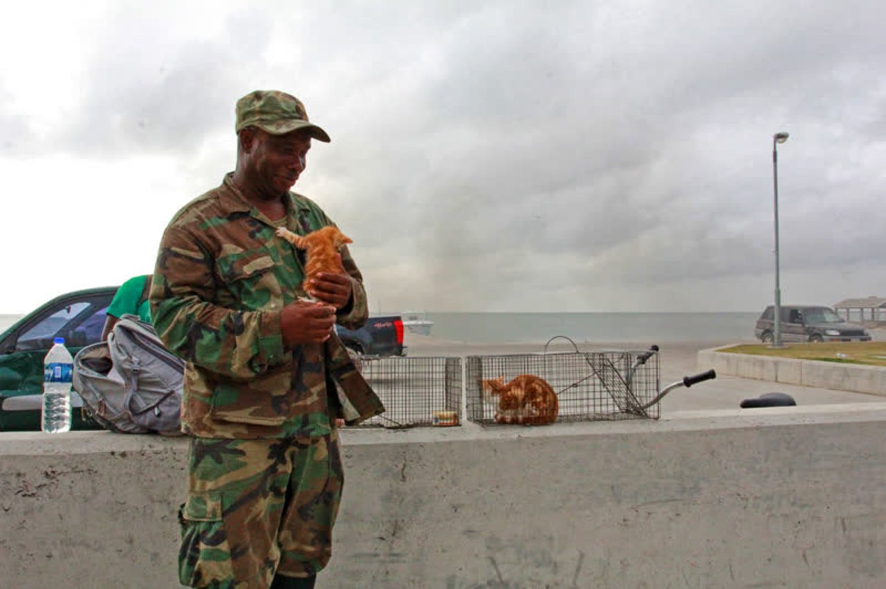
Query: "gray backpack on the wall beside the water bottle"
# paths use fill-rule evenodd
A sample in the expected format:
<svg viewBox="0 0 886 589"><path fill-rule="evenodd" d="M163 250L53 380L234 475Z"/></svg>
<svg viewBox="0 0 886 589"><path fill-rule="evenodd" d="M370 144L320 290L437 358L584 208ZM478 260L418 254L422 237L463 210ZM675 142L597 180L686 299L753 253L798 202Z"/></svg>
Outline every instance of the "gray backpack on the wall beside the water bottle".
<svg viewBox="0 0 886 589"><path fill-rule="evenodd" d="M112 432L180 434L184 363L150 324L124 315L107 341L74 356L74 390Z"/></svg>

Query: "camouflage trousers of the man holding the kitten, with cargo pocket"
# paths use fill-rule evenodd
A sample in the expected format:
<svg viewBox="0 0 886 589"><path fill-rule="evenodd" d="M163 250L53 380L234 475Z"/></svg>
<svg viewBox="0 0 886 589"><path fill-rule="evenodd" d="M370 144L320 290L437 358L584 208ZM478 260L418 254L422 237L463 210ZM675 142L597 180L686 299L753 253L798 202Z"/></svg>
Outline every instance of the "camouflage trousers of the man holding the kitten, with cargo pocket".
<svg viewBox="0 0 886 589"><path fill-rule="evenodd" d="M191 438L179 509L179 580L267 588L329 562L344 484L338 432L319 438Z"/></svg>

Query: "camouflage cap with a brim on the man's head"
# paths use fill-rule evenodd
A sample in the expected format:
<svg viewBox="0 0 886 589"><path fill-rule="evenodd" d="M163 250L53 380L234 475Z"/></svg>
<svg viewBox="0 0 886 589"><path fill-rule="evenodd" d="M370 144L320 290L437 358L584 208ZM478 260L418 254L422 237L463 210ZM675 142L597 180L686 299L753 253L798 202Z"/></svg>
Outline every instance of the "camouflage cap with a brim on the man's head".
<svg viewBox="0 0 886 589"><path fill-rule="evenodd" d="M255 90L237 101L237 133L247 126L257 126L269 134L282 135L307 129L314 139L330 142L322 128L307 119L305 105L295 96L278 90Z"/></svg>

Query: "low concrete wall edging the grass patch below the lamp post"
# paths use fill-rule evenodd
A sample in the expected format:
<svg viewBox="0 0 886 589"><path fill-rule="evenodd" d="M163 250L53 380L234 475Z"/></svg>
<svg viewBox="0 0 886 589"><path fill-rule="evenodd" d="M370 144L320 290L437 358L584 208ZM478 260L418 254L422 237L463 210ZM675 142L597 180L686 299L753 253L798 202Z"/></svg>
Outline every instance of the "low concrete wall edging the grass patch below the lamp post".
<svg viewBox="0 0 886 589"><path fill-rule="evenodd" d="M699 365L711 366L719 375L743 379L886 395L886 368L882 366L754 356L718 350L700 350L697 356Z"/></svg>

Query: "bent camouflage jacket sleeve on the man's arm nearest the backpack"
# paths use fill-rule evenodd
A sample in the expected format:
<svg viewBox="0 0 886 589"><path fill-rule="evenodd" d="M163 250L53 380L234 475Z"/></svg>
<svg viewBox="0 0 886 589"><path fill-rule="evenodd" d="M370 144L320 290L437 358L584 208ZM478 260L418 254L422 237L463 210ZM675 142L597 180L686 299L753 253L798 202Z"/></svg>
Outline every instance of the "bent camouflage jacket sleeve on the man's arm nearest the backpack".
<svg viewBox="0 0 886 589"><path fill-rule="evenodd" d="M177 356L216 374L251 379L285 359L279 310L231 310L214 304L214 256L196 224L163 234L154 268L151 313Z"/></svg>

